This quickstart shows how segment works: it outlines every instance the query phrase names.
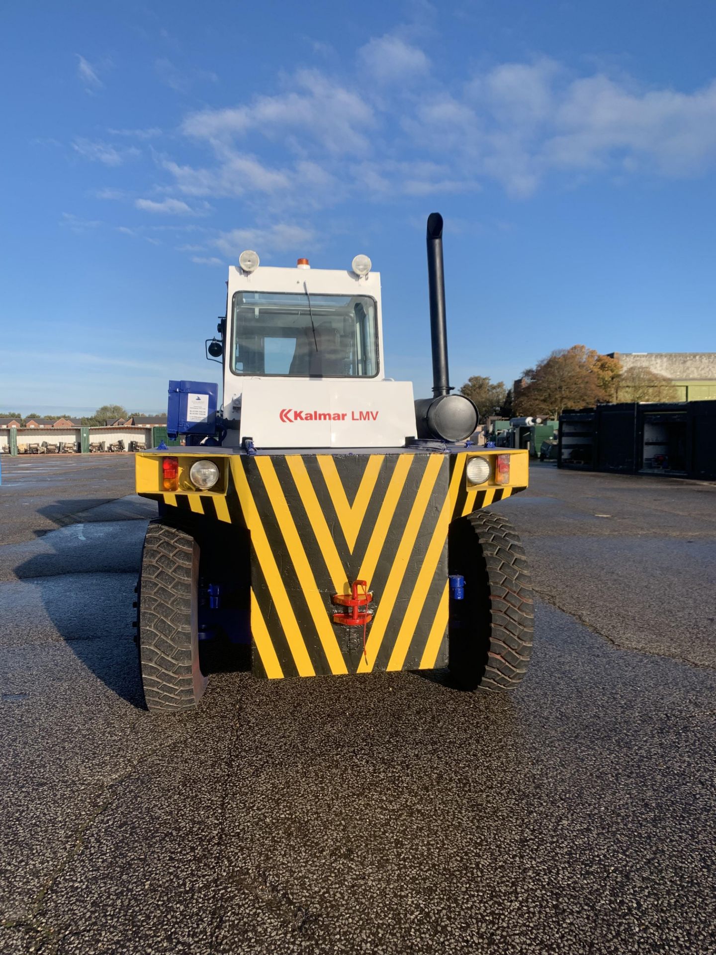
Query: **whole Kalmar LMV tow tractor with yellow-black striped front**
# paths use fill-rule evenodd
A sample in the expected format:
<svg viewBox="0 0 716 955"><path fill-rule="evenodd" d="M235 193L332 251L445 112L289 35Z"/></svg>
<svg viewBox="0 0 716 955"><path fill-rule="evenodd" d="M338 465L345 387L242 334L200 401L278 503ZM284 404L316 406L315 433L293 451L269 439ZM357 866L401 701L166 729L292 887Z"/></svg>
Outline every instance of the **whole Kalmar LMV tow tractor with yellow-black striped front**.
<svg viewBox="0 0 716 955"><path fill-rule="evenodd" d="M501 514L526 451L474 448L448 376L442 218L428 220L432 397L385 377L380 276L264 267L243 252L207 353L216 386L170 382L167 429L139 452L137 645L154 711L197 705L206 653L248 644L256 676L448 667L512 690L532 649L524 551Z"/></svg>

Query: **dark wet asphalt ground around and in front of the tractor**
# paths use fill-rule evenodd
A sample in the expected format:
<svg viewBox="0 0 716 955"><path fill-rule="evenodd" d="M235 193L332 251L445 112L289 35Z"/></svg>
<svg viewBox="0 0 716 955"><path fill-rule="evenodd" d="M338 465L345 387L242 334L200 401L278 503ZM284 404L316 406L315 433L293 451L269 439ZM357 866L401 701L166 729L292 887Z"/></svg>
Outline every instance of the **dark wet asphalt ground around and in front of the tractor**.
<svg viewBox="0 0 716 955"><path fill-rule="evenodd" d="M532 470L509 698L211 678L142 709L131 456L3 457L3 952L716 952L716 487Z"/></svg>

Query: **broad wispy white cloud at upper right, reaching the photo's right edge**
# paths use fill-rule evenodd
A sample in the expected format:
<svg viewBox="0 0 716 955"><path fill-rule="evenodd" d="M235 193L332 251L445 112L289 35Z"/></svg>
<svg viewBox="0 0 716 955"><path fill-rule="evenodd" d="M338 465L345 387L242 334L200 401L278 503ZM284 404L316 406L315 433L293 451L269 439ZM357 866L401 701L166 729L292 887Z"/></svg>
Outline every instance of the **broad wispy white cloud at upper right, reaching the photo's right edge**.
<svg viewBox="0 0 716 955"><path fill-rule="evenodd" d="M458 170L516 197L556 172L688 176L716 159L716 81L684 94L575 78L550 59L508 63L474 77L462 101L421 102L403 127L413 148L448 148Z"/></svg>

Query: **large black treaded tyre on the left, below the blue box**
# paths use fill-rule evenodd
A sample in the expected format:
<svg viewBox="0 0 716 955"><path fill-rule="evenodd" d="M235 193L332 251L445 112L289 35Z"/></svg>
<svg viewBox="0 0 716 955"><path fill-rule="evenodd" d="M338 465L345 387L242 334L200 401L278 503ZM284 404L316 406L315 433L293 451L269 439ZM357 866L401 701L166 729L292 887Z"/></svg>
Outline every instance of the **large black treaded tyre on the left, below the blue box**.
<svg viewBox="0 0 716 955"><path fill-rule="evenodd" d="M137 586L137 646L144 699L158 712L193 710L206 689L199 655L199 543L153 520Z"/></svg>

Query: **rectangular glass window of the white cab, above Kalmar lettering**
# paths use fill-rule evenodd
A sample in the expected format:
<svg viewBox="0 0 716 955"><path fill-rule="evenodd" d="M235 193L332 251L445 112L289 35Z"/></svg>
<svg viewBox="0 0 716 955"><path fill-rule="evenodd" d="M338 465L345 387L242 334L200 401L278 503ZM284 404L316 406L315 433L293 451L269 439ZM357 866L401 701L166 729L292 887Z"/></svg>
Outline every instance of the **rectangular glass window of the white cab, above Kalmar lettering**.
<svg viewBox="0 0 716 955"><path fill-rule="evenodd" d="M375 300L368 295L237 292L231 371L373 378Z"/></svg>

